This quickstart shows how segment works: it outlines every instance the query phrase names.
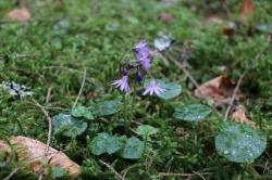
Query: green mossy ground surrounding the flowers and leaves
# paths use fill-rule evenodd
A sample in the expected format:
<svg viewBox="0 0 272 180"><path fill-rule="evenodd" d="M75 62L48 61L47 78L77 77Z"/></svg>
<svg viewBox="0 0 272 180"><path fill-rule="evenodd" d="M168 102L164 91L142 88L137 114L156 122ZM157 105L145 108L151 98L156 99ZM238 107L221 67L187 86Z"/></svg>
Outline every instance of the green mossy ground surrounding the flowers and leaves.
<svg viewBox="0 0 272 180"><path fill-rule="evenodd" d="M254 27L272 22L270 0L256 1L256 15L239 27L230 41L222 35L222 26L207 21L208 11L220 14L217 1L211 1L208 5L197 0L187 5L180 1L164 3L154 0L25 0L22 3L32 12L30 22L0 21L0 55L10 56L8 63L0 62L0 80L14 80L32 87L33 99L50 107L48 111L52 116L70 111L73 106L84 68L87 69L87 76L79 104L89 106L91 101L119 95L110 82L119 76L118 67L122 57L127 53L128 59L133 57L132 47L139 39L152 42L160 31L171 34L177 42L182 42L177 46L178 49L184 49L185 42L191 41L194 51L189 59L190 73L198 82L221 75L219 67L223 65L226 66L225 74L238 79L265 43L267 34L255 30ZM240 1L235 0L227 1L233 13L232 21L237 18L239 3ZM3 17L14 8L16 4L12 1L1 1L0 15ZM158 21L160 12L172 14L173 22L163 24ZM261 121L262 130L268 136L265 153L250 164L231 163L217 154L213 139L221 119L215 114L201 125L174 120L174 104L189 104L199 100L191 95L191 85L175 65L165 66L158 60L154 69L158 77L166 77L183 86L182 95L171 103L165 102L163 106L156 98L139 95L137 99L137 118L160 130L152 140L156 154L141 160L107 155L97 157L87 147L86 136L73 141L53 138L52 146L62 150L82 166L79 179L114 179L114 175L99 164L99 158L114 162L118 171L132 167L127 179L156 179L158 172L169 171L212 172L203 175L207 179L272 178L271 49L263 53L258 66L247 74L242 83L242 90L247 95L244 105L250 119L257 124ZM49 89L52 98L46 104ZM86 98L87 94L90 100ZM11 101L9 94L1 91L0 112L1 138L23 134L47 141L47 120L32 98ZM109 121L110 119L108 118ZM107 123L90 126L86 133L92 139L97 132L102 131L122 133ZM1 167L0 177L9 175L9 170L15 166ZM14 179L20 177L30 179L33 176L20 171Z"/></svg>

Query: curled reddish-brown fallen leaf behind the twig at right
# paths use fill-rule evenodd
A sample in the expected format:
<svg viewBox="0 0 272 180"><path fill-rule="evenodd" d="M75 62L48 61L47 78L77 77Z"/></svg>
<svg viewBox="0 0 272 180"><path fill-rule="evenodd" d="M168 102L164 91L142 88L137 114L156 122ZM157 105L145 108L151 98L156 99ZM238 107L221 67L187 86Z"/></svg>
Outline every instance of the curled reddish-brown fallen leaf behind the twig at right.
<svg viewBox="0 0 272 180"><path fill-rule="evenodd" d="M195 89L194 94L197 98L212 99L215 104L222 104L232 98L234 89L235 83L228 77L222 75L199 86ZM243 97L243 93L238 90L235 100L239 101Z"/></svg>

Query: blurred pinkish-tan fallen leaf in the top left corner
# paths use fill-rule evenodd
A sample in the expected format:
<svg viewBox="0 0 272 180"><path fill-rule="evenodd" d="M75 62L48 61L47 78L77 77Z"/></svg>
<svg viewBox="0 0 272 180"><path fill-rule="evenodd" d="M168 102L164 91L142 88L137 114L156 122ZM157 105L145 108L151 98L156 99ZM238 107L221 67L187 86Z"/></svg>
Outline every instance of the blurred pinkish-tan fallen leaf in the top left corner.
<svg viewBox="0 0 272 180"><path fill-rule="evenodd" d="M27 22L28 20L30 20L32 15L27 9L22 8L12 10L7 14L7 16L12 21Z"/></svg>

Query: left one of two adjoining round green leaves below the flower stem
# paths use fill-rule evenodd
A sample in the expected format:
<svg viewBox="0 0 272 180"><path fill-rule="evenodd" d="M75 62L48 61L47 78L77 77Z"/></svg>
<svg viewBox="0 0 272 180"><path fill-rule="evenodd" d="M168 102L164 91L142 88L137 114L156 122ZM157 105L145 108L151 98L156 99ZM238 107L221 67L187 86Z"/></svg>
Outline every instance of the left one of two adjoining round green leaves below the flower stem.
<svg viewBox="0 0 272 180"><path fill-rule="evenodd" d="M121 150L123 146L123 138L116 136L110 136L109 133L99 133L91 141L91 152L95 155L101 155L103 153L113 154Z"/></svg>

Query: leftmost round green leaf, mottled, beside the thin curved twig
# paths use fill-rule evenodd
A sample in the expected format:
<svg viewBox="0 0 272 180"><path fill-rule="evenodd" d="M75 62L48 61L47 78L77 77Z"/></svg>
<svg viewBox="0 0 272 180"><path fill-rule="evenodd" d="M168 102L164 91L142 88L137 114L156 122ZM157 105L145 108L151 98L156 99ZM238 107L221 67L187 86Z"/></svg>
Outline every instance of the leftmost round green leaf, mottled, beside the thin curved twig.
<svg viewBox="0 0 272 180"><path fill-rule="evenodd" d="M54 133L61 133L65 137L76 137L87 129L87 123L67 114L59 114L52 118L52 127Z"/></svg>

